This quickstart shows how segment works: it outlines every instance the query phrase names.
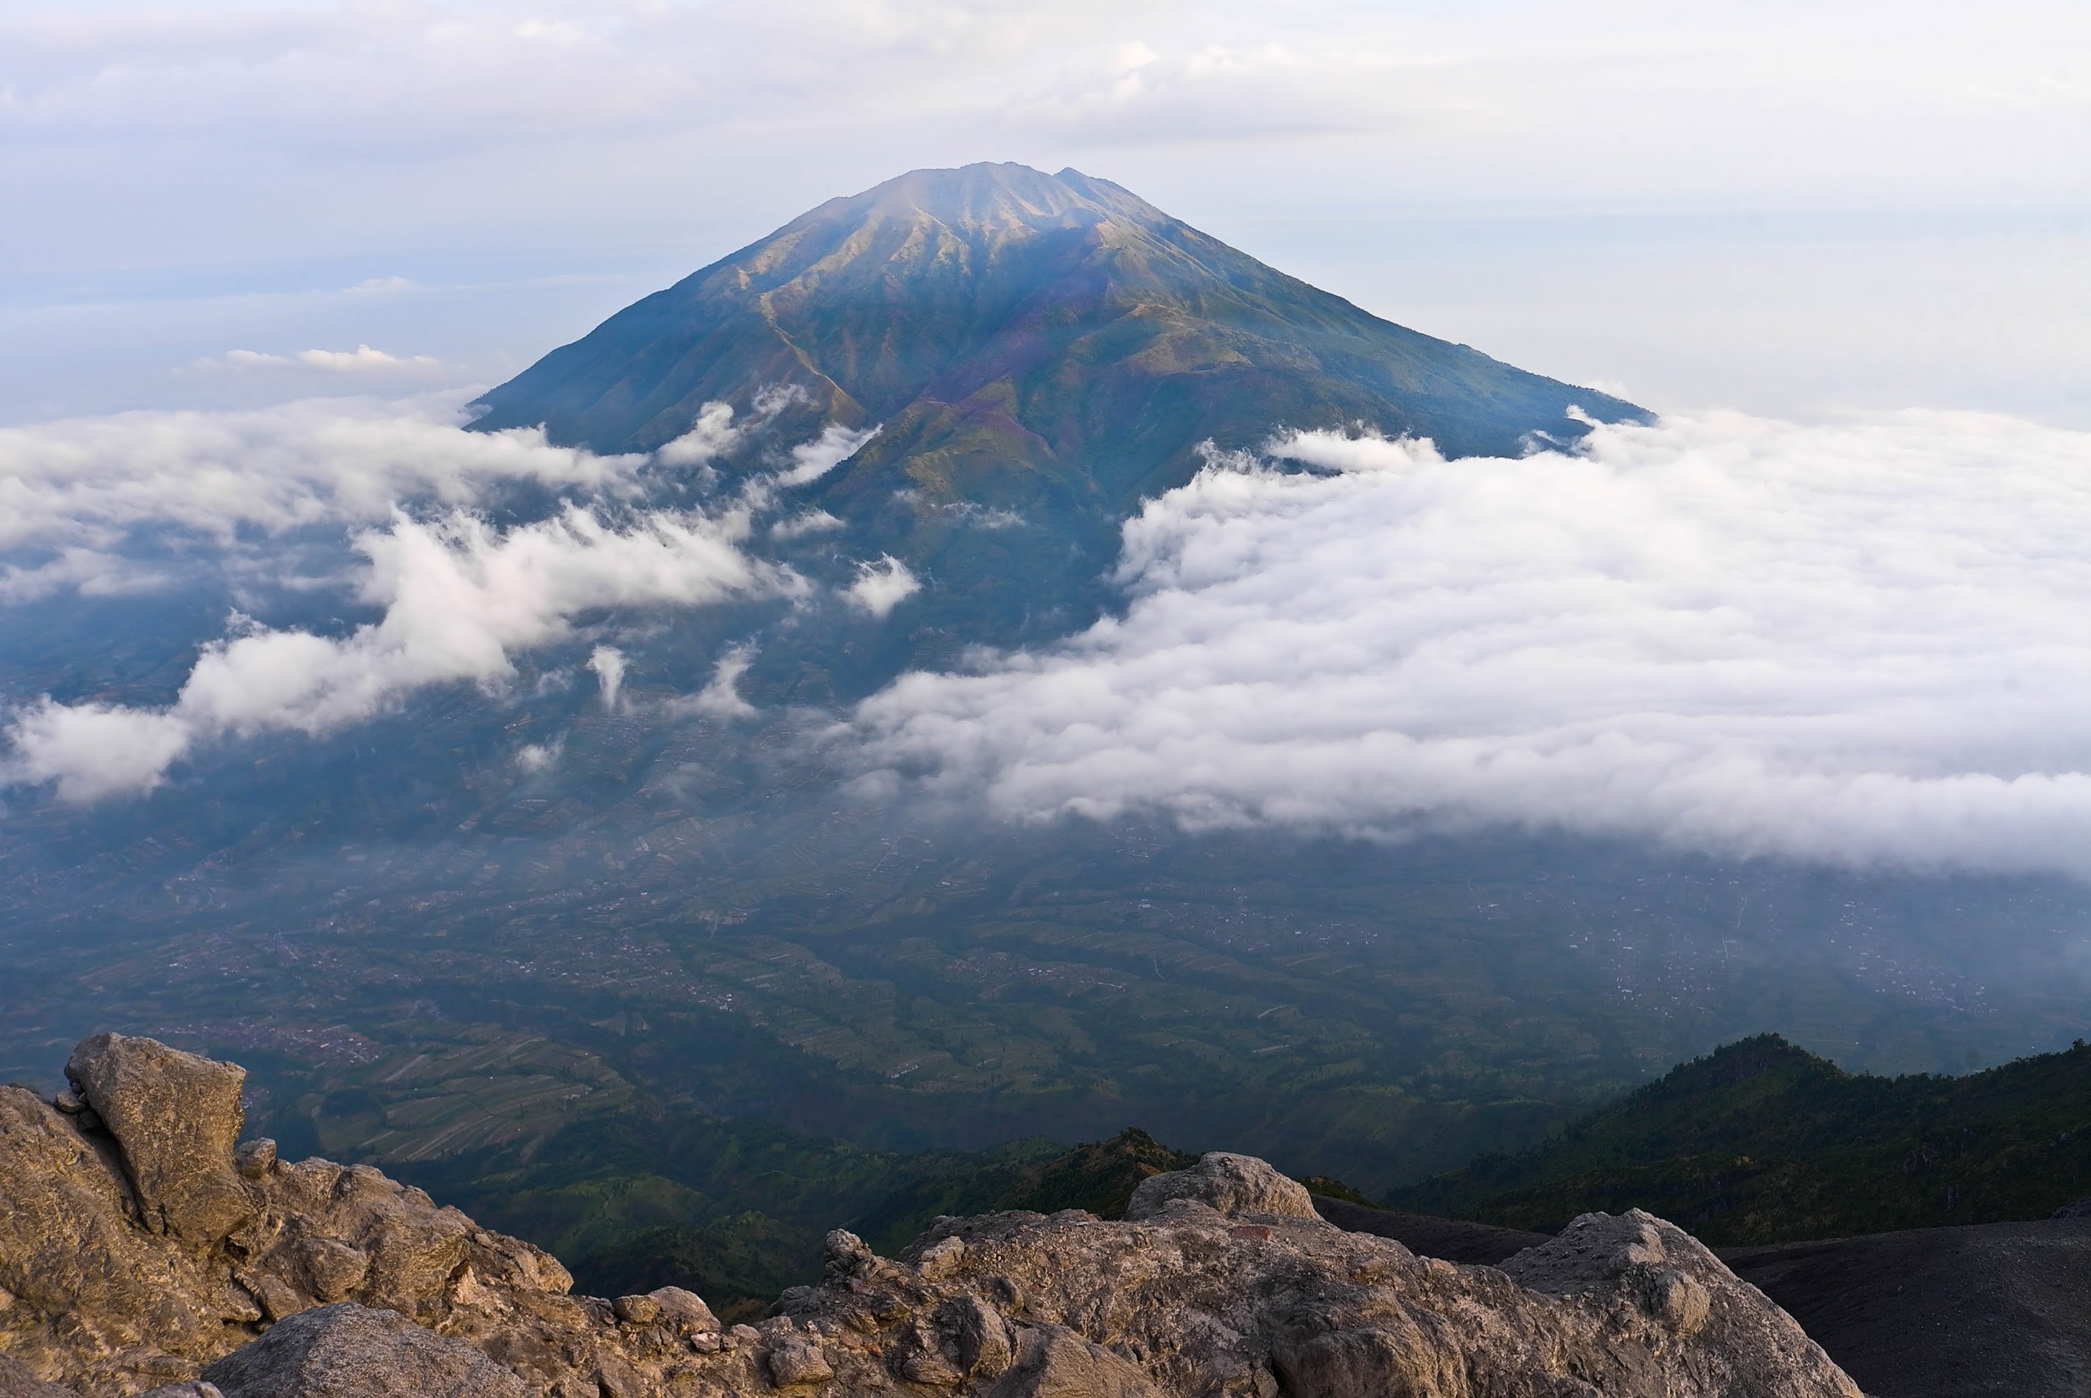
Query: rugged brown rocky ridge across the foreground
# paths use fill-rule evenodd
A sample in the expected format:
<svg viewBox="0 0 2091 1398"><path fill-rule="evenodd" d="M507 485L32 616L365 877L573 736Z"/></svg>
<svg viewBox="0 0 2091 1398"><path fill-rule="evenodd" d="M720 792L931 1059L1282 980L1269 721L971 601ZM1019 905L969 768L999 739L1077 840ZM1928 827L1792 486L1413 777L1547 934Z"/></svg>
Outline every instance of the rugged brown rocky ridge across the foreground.
<svg viewBox="0 0 2091 1398"><path fill-rule="evenodd" d="M1641 1212L1455 1266L1213 1154L1123 1222L943 1218L897 1258L830 1233L820 1285L721 1327L675 1287L569 1296L548 1254L378 1170L240 1143L232 1064L96 1034L67 1078L0 1089L0 1398L1859 1398Z"/></svg>

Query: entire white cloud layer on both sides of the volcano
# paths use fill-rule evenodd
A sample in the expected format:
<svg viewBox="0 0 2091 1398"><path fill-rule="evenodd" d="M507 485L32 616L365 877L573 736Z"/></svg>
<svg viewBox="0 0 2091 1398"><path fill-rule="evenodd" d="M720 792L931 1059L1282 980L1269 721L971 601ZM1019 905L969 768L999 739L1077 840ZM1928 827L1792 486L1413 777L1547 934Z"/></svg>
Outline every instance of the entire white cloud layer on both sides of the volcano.
<svg viewBox="0 0 2091 1398"><path fill-rule="evenodd" d="M767 539L841 520L795 489L864 433L661 502L761 424L707 410L659 453L466 433L452 397L123 414L0 433L0 604L148 591L167 556L332 529L378 616L234 616L171 702L17 694L4 777L151 792L224 740L324 736L416 690L498 690L577 619L820 591ZM680 472L680 474L677 474ZM496 525L491 491L562 504ZM715 485L715 481L713 481ZM836 717L859 790L1004 819L1399 838L1518 825L1840 865L2091 873L2091 435L1909 412L1593 426L1575 449L1282 433L1125 525L1125 610L1056 646L912 673ZM920 581L857 556L878 625ZM4 619L4 610L0 610ZM749 648L648 721L753 717ZM588 667L619 702L627 658ZM537 754L556 761L554 750Z"/></svg>

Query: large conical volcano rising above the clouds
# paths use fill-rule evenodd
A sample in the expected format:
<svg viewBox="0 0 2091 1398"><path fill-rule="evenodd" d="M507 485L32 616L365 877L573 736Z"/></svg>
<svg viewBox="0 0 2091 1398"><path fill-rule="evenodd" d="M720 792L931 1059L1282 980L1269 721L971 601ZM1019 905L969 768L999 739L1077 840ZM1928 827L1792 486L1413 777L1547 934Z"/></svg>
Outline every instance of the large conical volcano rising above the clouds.
<svg viewBox="0 0 2091 1398"><path fill-rule="evenodd" d="M554 349L487 393L475 426L652 451L713 403L765 424L734 439L738 462L721 449L726 470L851 428L805 502L935 573L970 639L1018 639L981 625L997 612L1031 635L1079 625L1119 525L1186 483L1204 441L1363 426L1516 456L1535 433L1579 435L1572 405L1639 414L1384 322L1108 180L1025 165L832 199ZM1033 529L962 529L983 518Z"/></svg>

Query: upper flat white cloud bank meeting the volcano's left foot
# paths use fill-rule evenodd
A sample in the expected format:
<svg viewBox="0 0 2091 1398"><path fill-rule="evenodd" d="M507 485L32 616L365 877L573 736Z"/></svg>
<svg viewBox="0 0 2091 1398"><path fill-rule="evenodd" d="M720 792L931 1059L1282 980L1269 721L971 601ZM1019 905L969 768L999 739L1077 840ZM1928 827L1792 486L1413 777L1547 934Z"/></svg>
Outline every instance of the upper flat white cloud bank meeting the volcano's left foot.
<svg viewBox="0 0 2091 1398"><path fill-rule="evenodd" d="M500 481L619 491L646 460L554 447L535 428L466 433L460 397L0 428L0 550L109 550L148 522L222 543L240 529L368 525L406 499L468 506Z"/></svg>

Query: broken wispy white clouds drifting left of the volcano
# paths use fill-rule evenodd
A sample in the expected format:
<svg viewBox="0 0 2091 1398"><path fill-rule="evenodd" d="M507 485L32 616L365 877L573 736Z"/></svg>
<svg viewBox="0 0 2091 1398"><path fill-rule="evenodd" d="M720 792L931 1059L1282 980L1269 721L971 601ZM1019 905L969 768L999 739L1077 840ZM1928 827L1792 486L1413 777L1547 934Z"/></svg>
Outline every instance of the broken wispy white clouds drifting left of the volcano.
<svg viewBox="0 0 2091 1398"><path fill-rule="evenodd" d="M805 598L805 577L746 543L761 516L792 508L792 487L870 437L828 428L734 491L657 506L677 472L717 485L709 462L761 426L763 407L736 424L728 405L711 403L659 453L600 458L552 447L542 430L468 433L460 397L134 412L0 430L0 560L15 556L0 566L0 606L61 589L171 585L165 560L132 558L142 531L176 531L190 556L245 556L253 570L268 566L272 541L332 527L360 560L337 581L381 612L341 635L234 616L226 635L203 642L165 706L48 694L19 702L4 721L0 779L50 786L79 805L136 796L174 763L207 761L217 740L339 731L429 685L496 690L519 654L573 637L583 612ZM514 483L556 491L558 508L489 522L479 506ZM916 587L905 564L878 556L859 562L841 600L884 616ZM598 646L588 669L615 708L623 652ZM734 713L744 658L721 660L721 679L692 704Z"/></svg>

